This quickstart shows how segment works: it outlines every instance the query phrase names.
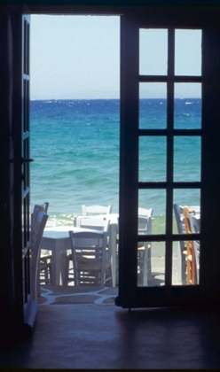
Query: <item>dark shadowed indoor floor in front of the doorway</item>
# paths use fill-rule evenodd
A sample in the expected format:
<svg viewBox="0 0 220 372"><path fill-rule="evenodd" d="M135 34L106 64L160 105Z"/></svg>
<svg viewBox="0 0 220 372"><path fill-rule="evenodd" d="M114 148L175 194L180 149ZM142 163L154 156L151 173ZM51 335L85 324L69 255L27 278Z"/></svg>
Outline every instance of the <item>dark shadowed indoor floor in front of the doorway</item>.
<svg viewBox="0 0 220 372"><path fill-rule="evenodd" d="M219 314L39 306L30 342L0 353L2 368L220 368Z"/></svg>

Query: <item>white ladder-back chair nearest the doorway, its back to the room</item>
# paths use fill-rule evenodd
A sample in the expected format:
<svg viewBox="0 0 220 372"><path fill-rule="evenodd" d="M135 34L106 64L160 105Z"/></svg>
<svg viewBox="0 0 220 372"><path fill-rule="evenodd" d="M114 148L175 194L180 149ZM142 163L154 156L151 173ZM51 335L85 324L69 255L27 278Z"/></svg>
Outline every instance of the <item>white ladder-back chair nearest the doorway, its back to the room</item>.
<svg viewBox="0 0 220 372"><path fill-rule="evenodd" d="M104 286L109 278L106 271L110 262L106 260L106 232L69 231L72 258L74 261L75 285Z"/></svg>

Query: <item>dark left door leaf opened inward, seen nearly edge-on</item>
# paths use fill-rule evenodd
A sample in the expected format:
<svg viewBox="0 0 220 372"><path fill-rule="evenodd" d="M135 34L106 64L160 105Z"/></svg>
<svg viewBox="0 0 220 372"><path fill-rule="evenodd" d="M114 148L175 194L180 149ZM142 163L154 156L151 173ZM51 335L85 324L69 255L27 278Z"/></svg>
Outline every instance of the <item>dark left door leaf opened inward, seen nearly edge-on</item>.
<svg viewBox="0 0 220 372"><path fill-rule="evenodd" d="M20 76L20 100L17 101L17 108L20 110L16 120L16 146L14 157L14 182L16 184L16 195L14 199L14 234L16 242L15 251L15 275L17 280L16 293L18 293L18 304L23 314L23 322L30 328L35 322L37 304L31 298L31 251L30 251L30 170L29 163L29 33L30 16L27 9L20 14L20 56L21 56L21 76ZM19 74L19 72L18 72ZM19 80L18 80L19 82ZM16 111L15 111L16 112ZM19 111L18 111L19 113ZM20 126L20 128L18 128ZM22 273L22 275L21 275ZM22 296L21 296L22 292ZM22 298L22 303L21 303Z"/></svg>

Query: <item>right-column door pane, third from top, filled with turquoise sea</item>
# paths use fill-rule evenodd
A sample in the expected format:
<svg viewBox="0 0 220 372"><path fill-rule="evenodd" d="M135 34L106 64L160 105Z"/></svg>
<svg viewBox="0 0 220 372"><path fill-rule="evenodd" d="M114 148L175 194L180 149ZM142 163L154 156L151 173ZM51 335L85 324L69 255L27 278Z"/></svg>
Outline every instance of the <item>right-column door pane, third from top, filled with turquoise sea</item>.
<svg viewBox="0 0 220 372"><path fill-rule="evenodd" d="M200 136L174 137L174 181L200 182Z"/></svg>

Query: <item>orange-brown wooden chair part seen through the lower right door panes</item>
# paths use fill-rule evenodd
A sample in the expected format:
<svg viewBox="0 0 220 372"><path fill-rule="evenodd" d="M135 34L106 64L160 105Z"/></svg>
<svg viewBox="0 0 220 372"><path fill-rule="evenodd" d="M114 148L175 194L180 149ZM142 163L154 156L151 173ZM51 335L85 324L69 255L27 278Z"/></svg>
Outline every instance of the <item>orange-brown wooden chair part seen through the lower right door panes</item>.
<svg viewBox="0 0 220 372"><path fill-rule="evenodd" d="M185 232L186 234L192 234L192 228L190 223L190 214L195 214L193 209L188 206L184 206L184 219L185 219ZM186 252L187 252L187 264L186 264L186 284L197 283L196 273L196 259L195 250L192 240L186 240Z"/></svg>

